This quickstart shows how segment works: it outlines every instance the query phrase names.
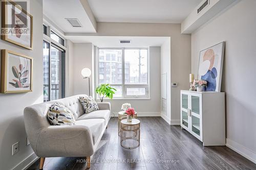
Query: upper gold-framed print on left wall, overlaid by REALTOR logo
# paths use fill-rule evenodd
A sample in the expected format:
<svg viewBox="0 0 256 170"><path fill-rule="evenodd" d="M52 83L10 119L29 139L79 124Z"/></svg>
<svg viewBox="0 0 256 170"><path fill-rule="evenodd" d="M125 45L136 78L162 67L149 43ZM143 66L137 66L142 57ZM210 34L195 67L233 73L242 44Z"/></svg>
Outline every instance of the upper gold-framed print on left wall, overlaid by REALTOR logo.
<svg viewBox="0 0 256 170"><path fill-rule="evenodd" d="M19 3L19 4L16 4ZM27 1L2 1L2 39L33 49L33 16L25 9Z"/></svg>

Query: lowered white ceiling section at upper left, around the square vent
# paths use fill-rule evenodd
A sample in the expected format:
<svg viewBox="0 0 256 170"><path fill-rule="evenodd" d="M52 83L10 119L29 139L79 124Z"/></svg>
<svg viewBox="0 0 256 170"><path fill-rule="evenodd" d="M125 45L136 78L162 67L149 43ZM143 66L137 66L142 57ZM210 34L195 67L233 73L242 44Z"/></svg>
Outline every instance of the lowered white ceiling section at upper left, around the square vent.
<svg viewBox="0 0 256 170"><path fill-rule="evenodd" d="M44 0L44 15L65 33L95 33L91 20L79 0ZM65 18L78 18L82 28L73 28Z"/></svg>

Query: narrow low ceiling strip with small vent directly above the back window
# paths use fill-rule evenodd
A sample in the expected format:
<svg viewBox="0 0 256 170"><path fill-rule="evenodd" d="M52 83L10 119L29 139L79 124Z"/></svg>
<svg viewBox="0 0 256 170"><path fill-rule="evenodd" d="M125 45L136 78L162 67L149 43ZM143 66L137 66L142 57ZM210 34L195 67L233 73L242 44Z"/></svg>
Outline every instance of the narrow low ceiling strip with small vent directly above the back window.
<svg viewBox="0 0 256 170"><path fill-rule="evenodd" d="M91 42L98 47L148 47L161 46L169 37L116 37L116 36L67 36L74 43ZM131 44L120 44L119 40L131 40Z"/></svg>

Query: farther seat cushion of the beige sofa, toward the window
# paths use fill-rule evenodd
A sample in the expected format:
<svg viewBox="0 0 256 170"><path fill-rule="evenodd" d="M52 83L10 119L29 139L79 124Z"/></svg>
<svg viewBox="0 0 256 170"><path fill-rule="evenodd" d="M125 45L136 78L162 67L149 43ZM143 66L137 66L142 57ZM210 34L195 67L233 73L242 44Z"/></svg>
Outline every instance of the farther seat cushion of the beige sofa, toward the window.
<svg viewBox="0 0 256 170"><path fill-rule="evenodd" d="M77 118L77 120L91 119L91 118L103 118L105 124L108 123L110 118L110 110L96 110L87 114L83 114Z"/></svg>

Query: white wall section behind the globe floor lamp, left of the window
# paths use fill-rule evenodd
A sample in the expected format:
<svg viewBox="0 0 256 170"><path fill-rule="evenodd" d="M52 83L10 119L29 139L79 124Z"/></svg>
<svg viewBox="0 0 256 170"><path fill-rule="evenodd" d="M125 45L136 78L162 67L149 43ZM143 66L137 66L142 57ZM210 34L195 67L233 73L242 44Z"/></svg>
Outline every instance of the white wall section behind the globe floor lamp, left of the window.
<svg viewBox="0 0 256 170"><path fill-rule="evenodd" d="M83 79L81 70L85 67L94 69L94 45L92 43L74 43L73 45L73 91L76 94L89 94L88 79ZM92 72L92 75L94 72ZM91 95L92 95L92 76Z"/></svg>

